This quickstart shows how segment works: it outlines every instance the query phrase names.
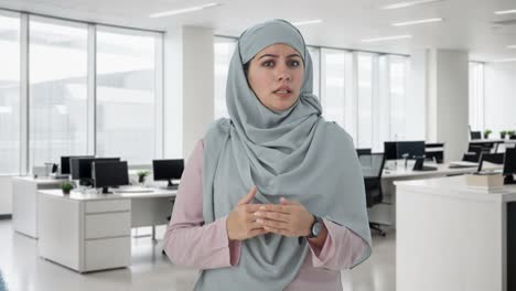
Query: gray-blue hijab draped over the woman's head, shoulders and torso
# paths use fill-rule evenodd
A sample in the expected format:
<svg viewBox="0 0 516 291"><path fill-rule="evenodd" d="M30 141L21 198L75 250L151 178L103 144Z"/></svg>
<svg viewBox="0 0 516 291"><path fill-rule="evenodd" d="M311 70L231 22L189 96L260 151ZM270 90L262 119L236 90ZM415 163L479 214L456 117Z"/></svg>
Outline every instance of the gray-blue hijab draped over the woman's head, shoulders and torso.
<svg viewBox="0 0 516 291"><path fill-rule="evenodd" d="M244 64L265 47L282 43L304 62L299 100L272 111L247 83ZM321 117L312 94L312 61L300 32L282 20L245 31L229 64L226 87L229 119L216 120L204 138L203 216L206 224L226 216L257 185L252 203L299 201L312 214L353 230L370 255L364 180L353 140ZM227 247L227 246L225 246ZM283 290L305 259L305 239L276 234L241 241L237 266L202 270L195 290Z"/></svg>

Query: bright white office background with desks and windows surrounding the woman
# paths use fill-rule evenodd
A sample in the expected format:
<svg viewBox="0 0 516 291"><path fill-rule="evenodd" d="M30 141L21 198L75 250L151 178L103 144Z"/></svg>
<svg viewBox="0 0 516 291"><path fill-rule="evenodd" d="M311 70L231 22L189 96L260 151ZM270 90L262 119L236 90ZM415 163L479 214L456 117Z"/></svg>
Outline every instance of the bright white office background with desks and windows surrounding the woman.
<svg viewBox="0 0 516 291"><path fill-rule="evenodd" d="M0 0L0 290L193 289L162 254L178 183L270 19L303 34L363 168L373 255L342 290L516 290L513 0Z"/></svg>

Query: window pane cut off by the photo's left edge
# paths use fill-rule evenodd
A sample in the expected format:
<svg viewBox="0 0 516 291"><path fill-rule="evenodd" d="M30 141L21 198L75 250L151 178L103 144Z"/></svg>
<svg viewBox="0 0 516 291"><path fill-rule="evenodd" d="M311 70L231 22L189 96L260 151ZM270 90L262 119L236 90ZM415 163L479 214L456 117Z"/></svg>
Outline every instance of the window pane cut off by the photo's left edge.
<svg viewBox="0 0 516 291"><path fill-rule="evenodd" d="M20 18L0 14L0 174L20 173Z"/></svg>

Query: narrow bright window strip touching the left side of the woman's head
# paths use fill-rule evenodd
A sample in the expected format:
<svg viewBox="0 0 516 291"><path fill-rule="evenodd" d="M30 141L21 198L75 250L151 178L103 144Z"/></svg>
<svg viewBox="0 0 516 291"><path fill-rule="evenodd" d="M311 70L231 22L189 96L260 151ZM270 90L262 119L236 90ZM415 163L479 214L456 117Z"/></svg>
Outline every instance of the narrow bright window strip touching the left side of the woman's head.
<svg viewBox="0 0 516 291"><path fill-rule="evenodd" d="M215 37L215 119L229 117L226 107L226 83L236 40Z"/></svg>

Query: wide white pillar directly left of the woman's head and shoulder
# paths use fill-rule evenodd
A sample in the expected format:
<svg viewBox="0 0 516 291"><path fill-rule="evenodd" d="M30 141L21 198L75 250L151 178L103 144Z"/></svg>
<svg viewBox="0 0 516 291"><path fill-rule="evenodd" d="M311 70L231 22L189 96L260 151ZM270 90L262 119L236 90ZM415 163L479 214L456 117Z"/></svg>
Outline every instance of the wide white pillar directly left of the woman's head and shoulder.
<svg viewBox="0 0 516 291"><path fill-rule="evenodd" d="M164 157L187 159L214 119L213 31L169 30L164 45Z"/></svg>

